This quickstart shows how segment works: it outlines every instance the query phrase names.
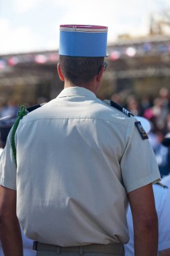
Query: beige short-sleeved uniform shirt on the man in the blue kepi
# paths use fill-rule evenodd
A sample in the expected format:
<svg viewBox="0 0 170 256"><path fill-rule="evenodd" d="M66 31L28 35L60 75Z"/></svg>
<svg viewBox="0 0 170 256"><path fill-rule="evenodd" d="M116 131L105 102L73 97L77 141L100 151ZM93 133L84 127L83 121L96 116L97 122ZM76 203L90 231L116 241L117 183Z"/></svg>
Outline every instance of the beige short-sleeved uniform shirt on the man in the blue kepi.
<svg viewBox="0 0 170 256"><path fill-rule="evenodd" d="M134 117L85 88L66 88L22 119L0 160L0 184L17 189L29 238L60 246L128 242L127 192L159 180Z"/></svg>

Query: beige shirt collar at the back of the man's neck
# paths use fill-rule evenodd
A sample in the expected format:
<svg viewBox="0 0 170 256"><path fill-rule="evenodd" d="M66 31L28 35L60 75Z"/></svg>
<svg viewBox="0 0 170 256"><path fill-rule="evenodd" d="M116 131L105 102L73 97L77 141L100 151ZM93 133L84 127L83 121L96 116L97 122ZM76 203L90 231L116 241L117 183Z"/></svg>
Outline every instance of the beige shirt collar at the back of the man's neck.
<svg viewBox="0 0 170 256"><path fill-rule="evenodd" d="M65 88L60 92L60 94L58 94L56 98L62 98L67 96L81 96L81 97L86 96L86 97L96 98L93 92L91 92L86 88L78 87L78 86Z"/></svg>

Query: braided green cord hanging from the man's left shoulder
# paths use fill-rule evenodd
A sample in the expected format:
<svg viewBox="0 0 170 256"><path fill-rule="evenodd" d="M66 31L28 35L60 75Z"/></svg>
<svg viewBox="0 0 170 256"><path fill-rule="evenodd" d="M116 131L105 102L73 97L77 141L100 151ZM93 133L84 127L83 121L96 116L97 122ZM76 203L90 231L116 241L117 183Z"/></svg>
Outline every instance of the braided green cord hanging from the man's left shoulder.
<svg viewBox="0 0 170 256"><path fill-rule="evenodd" d="M16 148L15 148L15 132L19 125L19 121L22 119L22 117L24 117L27 114L28 114L28 110L26 109L26 106L22 105L20 107L19 112L17 113L17 119L15 120L15 123L13 124L13 130L12 130L12 134L11 134L11 148L12 148L12 152L13 152L13 159L15 161L16 166L17 166L17 152L16 152Z"/></svg>

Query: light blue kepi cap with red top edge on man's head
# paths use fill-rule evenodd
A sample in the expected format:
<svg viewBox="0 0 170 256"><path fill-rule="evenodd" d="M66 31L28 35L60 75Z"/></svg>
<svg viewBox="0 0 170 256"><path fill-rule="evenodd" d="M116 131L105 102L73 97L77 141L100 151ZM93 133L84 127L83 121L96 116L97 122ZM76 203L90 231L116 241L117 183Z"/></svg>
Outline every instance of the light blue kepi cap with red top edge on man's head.
<svg viewBox="0 0 170 256"><path fill-rule="evenodd" d="M73 57L105 57L108 27L60 25L59 55Z"/></svg>

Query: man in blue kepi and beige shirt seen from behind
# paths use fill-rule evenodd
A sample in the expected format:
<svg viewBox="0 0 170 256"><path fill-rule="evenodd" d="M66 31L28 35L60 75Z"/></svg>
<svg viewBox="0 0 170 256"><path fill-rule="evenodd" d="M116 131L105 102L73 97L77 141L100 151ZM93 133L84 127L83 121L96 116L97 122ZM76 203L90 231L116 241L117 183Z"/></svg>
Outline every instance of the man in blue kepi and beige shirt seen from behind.
<svg viewBox="0 0 170 256"><path fill-rule="evenodd" d="M60 26L60 94L28 113L0 161L0 232L5 256L22 256L19 223L38 256L124 255L128 201L136 256L157 255L152 183L160 175L134 117L96 97L108 28ZM19 220L19 222L18 222Z"/></svg>

